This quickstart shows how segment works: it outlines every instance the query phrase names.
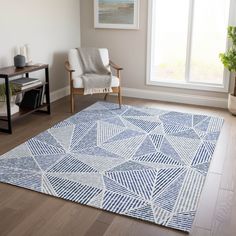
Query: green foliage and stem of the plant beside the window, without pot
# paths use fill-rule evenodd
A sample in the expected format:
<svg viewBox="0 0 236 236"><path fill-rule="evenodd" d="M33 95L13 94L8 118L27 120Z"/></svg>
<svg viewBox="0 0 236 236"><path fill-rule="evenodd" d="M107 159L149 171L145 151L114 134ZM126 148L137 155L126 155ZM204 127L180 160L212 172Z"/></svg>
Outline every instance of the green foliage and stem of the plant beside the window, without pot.
<svg viewBox="0 0 236 236"><path fill-rule="evenodd" d="M220 59L225 68L230 72L236 72L236 26L228 27L228 38L232 41L232 46L225 53L220 53ZM233 95L236 96L236 77Z"/></svg>

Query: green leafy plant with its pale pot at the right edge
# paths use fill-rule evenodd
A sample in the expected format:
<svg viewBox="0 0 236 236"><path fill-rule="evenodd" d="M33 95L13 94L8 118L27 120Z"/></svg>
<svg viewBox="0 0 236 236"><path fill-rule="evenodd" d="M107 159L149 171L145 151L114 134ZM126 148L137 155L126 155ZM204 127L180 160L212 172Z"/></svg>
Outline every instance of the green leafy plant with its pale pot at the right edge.
<svg viewBox="0 0 236 236"><path fill-rule="evenodd" d="M228 38L232 41L232 46L225 53L220 54L220 59L225 68L234 73L234 92L229 94L228 109L236 115L236 26L228 27Z"/></svg>

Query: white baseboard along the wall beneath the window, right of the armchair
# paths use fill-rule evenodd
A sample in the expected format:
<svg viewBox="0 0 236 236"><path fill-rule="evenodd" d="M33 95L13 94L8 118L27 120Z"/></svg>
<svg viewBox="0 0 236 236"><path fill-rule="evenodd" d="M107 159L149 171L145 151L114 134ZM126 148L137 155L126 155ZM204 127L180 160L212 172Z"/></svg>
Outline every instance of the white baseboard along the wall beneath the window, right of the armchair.
<svg viewBox="0 0 236 236"><path fill-rule="evenodd" d="M144 99L159 100L164 102L177 102L191 105L227 108L226 98L151 91L151 90L134 89L134 88L122 88L122 95L125 97L144 98Z"/></svg>

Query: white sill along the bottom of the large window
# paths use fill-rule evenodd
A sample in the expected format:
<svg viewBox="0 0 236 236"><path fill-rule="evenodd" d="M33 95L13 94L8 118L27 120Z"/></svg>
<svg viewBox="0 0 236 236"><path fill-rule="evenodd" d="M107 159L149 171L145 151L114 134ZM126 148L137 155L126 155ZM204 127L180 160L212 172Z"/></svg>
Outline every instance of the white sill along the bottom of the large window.
<svg viewBox="0 0 236 236"><path fill-rule="evenodd" d="M217 85L217 84L200 84L200 83L186 83L186 82L166 82L166 81L153 81L147 80L147 85L155 85L161 87L170 87L170 88L182 88L182 89L192 89L192 90L201 90L201 91L211 91L211 92L220 92L228 93L229 89L226 85Z"/></svg>

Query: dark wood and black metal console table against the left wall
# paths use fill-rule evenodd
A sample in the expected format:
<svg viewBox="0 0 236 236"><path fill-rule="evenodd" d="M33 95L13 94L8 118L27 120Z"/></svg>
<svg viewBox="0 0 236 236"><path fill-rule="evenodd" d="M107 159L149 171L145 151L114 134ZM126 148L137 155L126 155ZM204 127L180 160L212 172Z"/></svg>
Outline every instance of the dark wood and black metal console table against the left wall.
<svg viewBox="0 0 236 236"><path fill-rule="evenodd" d="M10 78L24 75L25 77L29 77L29 73L45 70L45 82L42 84L45 86L45 94L46 103L43 103L36 109L20 109L20 111L14 115L11 115L11 103L10 103ZM0 127L0 131L12 134L12 121L22 118L26 115L29 115L35 111L44 112L50 114L50 94L49 94L49 73L48 73L48 65L47 64L38 64L32 66L26 66L24 68L16 68L14 66L0 68L0 79L5 80L5 88L6 88L6 105L7 105L7 115L5 117L0 117L0 121L5 122L7 127ZM42 85L36 85L35 87L31 87L30 89L23 90L21 92L25 92L27 90L35 89ZM44 108L44 109L43 109ZM46 110L45 110L46 108Z"/></svg>

